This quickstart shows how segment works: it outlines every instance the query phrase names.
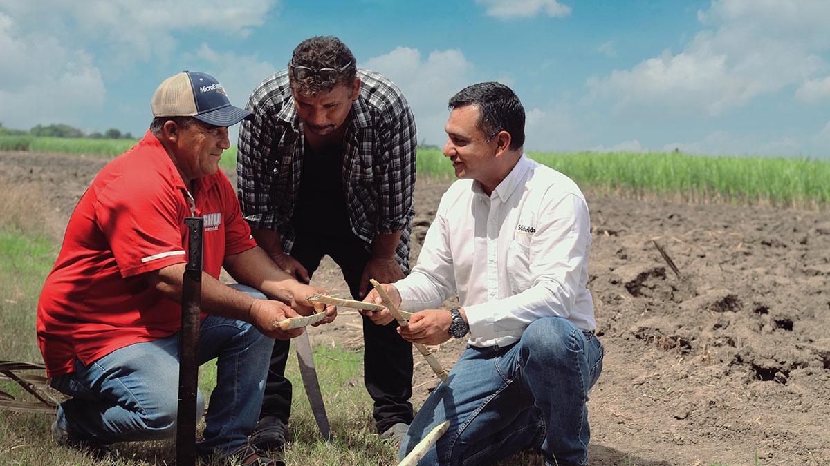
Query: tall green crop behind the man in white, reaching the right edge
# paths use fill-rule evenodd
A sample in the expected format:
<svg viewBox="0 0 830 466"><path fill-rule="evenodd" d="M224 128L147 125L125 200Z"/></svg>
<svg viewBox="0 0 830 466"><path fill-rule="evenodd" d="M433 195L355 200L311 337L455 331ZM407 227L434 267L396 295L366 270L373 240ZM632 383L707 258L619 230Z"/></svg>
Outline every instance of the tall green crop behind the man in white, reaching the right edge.
<svg viewBox="0 0 830 466"><path fill-rule="evenodd" d="M529 153L599 196L827 209L830 162L681 153ZM419 176L452 177L438 150L417 154Z"/></svg>

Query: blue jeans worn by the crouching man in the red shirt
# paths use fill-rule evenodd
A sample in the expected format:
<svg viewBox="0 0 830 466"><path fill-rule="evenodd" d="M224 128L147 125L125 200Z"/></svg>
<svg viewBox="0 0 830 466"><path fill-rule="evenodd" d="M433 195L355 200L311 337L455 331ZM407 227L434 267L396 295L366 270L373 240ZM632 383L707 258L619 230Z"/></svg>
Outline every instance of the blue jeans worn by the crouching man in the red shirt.
<svg viewBox="0 0 830 466"><path fill-rule="evenodd" d="M256 427L274 341L249 323L207 316L200 326L198 364L217 358L213 390L198 454L222 454L247 443ZM95 444L168 439L176 434L178 333L122 347L51 381L72 396L57 424ZM204 397L197 393L201 417Z"/></svg>

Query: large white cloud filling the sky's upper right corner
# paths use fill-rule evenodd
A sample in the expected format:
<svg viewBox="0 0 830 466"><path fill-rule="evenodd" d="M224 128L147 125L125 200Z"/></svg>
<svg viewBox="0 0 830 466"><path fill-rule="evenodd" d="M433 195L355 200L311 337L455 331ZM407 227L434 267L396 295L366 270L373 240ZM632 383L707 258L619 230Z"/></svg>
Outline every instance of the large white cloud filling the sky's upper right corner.
<svg viewBox="0 0 830 466"><path fill-rule="evenodd" d="M830 28L818 18L830 17L830 2L717 0L698 17L710 29L683 51L589 79L589 101L720 115L828 67L821 54L830 47Z"/></svg>

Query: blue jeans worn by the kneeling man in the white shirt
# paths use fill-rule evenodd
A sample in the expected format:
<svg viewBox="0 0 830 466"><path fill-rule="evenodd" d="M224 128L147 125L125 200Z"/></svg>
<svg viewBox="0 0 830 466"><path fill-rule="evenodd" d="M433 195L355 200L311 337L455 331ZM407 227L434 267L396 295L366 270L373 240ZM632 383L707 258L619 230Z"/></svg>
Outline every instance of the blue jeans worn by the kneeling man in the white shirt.
<svg viewBox="0 0 830 466"><path fill-rule="evenodd" d="M409 426L400 458L449 420L419 464L489 464L529 448L549 464L587 464L585 402L603 351L565 318L530 323L509 347L466 347Z"/></svg>

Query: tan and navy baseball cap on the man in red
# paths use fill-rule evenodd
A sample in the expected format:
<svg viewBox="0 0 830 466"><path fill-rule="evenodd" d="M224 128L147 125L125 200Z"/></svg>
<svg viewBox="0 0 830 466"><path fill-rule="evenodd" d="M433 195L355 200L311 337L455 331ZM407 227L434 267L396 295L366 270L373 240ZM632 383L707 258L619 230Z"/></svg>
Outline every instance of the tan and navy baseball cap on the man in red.
<svg viewBox="0 0 830 466"><path fill-rule="evenodd" d="M182 71L159 85L150 101L153 116L192 116L208 124L231 126L253 114L234 107L212 75Z"/></svg>

